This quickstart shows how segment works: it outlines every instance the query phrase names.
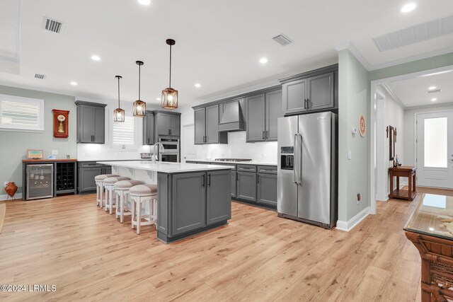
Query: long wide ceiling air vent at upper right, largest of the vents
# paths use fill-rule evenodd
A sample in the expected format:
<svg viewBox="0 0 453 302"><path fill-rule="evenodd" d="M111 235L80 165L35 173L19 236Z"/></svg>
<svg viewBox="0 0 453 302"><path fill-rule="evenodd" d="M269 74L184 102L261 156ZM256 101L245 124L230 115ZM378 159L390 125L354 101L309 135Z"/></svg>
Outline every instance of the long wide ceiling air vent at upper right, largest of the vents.
<svg viewBox="0 0 453 302"><path fill-rule="evenodd" d="M453 16L448 16L374 37L373 40L376 42L377 48L381 52L385 52L451 33L453 33Z"/></svg>

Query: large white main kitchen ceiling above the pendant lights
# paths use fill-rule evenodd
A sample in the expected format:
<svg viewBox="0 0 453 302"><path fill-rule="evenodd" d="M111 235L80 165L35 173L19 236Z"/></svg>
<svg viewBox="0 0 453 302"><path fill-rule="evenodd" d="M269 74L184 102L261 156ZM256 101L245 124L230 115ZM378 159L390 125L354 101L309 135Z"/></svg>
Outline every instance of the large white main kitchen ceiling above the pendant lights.
<svg viewBox="0 0 453 302"><path fill-rule="evenodd" d="M10 8L2 0L0 11ZM17 3L18 0L16 0ZM142 66L142 100L158 104L168 86L168 45L173 47L173 88L180 105L316 67L334 64L334 47L352 42L370 65L453 47L452 35L379 52L372 37L453 14L451 0L23 0L21 69L1 69L0 82L88 98L115 99L123 76L122 100L137 98L137 59ZM14 2L14 1L13 1ZM46 16L65 23L60 34L42 29ZM0 21L1 30L11 24ZM294 40L282 47L271 38ZM98 54L100 62L90 57ZM268 64L261 65L260 57ZM34 79L35 73L47 79ZM78 86L71 86L76 81ZM195 88L195 83L201 88Z"/></svg>

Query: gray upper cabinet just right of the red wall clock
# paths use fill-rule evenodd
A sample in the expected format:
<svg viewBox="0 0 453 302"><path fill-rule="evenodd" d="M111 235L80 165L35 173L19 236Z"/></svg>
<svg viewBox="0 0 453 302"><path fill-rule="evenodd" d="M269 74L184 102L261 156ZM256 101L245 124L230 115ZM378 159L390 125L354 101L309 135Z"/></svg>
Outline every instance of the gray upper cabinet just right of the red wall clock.
<svg viewBox="0 0 453 302"><path fill-rule="evenodd" d="M76 101L77 143L104 144L105 104Z"/></svg>

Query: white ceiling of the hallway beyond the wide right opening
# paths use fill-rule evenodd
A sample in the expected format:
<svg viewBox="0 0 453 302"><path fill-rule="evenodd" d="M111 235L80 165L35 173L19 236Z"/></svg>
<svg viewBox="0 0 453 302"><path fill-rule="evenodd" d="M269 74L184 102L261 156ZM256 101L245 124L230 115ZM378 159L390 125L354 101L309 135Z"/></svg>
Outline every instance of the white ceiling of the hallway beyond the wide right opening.
<svg viewBox="0 0 453 302"><path fill-rule="evenodd" d="M406 107L436 105L453 102L453 71L415 79L387 83L387 86ZM436 87L442 92L426 93L428 88ZM432 102L432 98L437 98Z"/></svg>

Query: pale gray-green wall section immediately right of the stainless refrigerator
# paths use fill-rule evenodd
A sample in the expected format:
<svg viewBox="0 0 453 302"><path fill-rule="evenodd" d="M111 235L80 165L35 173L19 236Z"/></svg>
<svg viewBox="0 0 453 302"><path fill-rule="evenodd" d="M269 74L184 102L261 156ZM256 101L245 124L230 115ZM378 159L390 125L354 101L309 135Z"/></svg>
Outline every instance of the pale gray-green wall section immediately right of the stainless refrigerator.
<svg viewBox="0 0 453 302"><path fill-rule="evenodd" d="M338 220L348 221L369 206L369 132L351 133L360 113L369 122L369 72L349 50L338 52L338 64Z"/></svg>

